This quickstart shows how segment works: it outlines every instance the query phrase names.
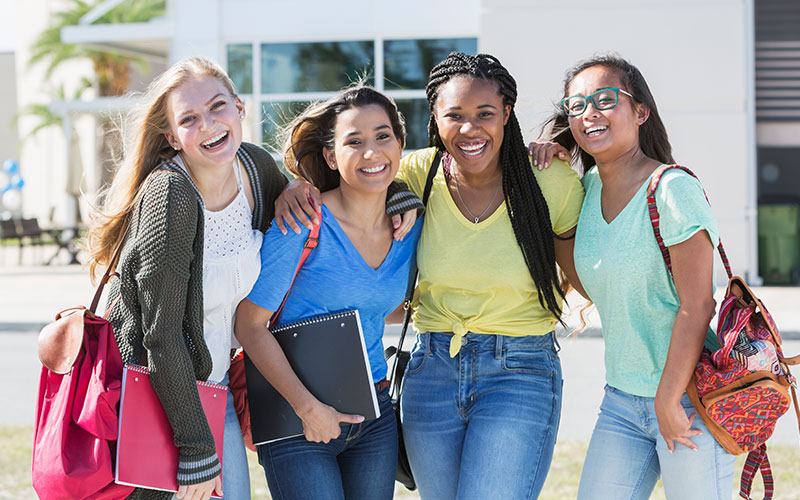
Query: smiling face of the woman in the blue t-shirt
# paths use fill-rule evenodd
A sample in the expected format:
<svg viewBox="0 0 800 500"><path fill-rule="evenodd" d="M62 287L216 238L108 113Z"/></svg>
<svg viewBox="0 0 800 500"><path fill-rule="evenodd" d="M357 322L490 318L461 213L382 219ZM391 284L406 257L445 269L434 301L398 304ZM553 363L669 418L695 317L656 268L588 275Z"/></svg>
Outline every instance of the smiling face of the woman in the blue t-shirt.
<svg viewBox="0 0 800 500"><path fill-rule="evenodd" d="M325 148L325 160L339 172L342 188L382 192L394 180L403 148L380 105L340 113L333 141L333 149Z"/></svg>

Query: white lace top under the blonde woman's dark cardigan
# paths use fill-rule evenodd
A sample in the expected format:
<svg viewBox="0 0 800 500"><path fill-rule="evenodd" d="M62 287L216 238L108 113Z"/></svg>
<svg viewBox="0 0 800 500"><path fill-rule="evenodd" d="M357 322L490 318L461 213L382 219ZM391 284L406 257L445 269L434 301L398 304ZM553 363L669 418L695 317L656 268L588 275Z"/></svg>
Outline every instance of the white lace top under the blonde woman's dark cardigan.
<svg viewBox="0 0 800 500"><path fill-rule="evenodd" d="M176 163L186 169L179 156ZM230 351L239 347L233 322L239 302L247 297L261 271L264 235L252 228L252 210L245 196L242 166L234 163L239 193L222 210L204 208L203 336L213 368L208 380L221 382L230 367Z"/></svg>

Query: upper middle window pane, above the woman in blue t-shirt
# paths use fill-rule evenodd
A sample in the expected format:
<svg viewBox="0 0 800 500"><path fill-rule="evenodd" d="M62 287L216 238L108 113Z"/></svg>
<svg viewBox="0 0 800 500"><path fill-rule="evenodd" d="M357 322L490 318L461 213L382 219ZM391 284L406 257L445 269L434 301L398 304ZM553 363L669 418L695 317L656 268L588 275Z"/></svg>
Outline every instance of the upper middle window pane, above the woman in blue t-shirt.
<svg viewBox="0 0 800 500"><path fill-rule="evenodd" d="M262 44L261 92L336 91L367 74L373 85L374 47L372 41Z"/></svg>

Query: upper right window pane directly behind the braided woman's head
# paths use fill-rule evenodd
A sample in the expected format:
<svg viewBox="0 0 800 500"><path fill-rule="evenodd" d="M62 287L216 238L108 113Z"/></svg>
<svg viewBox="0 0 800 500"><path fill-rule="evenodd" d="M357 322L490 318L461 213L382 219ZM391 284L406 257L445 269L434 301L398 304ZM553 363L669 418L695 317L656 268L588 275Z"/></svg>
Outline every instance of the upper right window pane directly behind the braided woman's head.
<svg viewBox="0 0 800 500"><path fill-rule="evenodd" d="M452 51L475 54L476 38L386 40L383 42L385 88L424 89L436 63Z"/></svg>

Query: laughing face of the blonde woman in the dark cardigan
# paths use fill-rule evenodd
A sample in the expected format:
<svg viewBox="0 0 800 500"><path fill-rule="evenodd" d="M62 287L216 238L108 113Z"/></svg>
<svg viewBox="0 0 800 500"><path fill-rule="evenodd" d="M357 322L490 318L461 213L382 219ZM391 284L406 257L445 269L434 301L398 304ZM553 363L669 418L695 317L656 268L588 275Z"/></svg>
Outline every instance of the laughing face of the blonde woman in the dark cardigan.
<svg viewBox="0 0 800 500"><path fill-rule="evenodd" d="M244 106L212 76L193 78L167 98L170 145L192 167L230 165L242 144Z"/></svg>

